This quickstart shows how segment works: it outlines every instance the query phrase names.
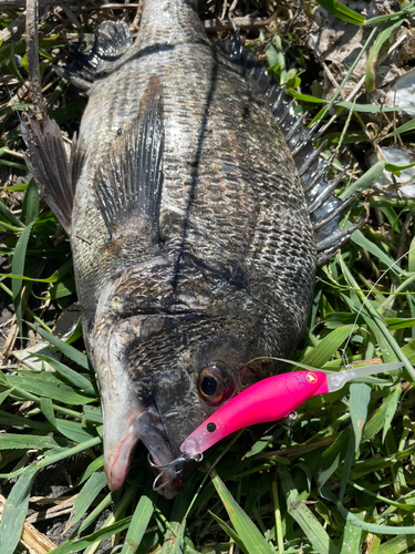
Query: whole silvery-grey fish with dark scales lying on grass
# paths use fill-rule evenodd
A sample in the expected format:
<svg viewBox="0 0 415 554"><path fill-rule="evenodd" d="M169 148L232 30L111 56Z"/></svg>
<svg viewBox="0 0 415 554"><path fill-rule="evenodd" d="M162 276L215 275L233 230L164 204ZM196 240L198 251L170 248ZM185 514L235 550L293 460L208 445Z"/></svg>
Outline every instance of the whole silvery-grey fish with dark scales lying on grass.
<svg viewBox="0 0 415 554"><path fill-rule="evenodd" d="M70 158L32 113L27 163L70 237L110 489L141 441L172 499L183 441L278 372L267 358L295 348L318 266L361 222L339 229L353 198L333 194L323 146L238 33L210 42L196 0L145 0L134 42L102 23L74 68L87 105Z"/></svg>

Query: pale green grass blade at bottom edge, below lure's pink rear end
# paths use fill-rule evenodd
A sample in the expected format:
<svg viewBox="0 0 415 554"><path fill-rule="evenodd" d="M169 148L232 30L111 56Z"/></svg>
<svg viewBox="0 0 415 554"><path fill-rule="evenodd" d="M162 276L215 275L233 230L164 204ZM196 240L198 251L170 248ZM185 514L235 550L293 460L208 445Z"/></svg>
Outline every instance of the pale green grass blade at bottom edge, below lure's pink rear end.
<svg viewBox="0 0 415 554"><path fill-rule="evenodd" d="M280 465L279 472L281 485L287 499L288 513L297 521L319 554L339 554L339 548L334 541L330 538L315 515L313 515L310 509L301 501L288 469L284 465Z"/></svg>

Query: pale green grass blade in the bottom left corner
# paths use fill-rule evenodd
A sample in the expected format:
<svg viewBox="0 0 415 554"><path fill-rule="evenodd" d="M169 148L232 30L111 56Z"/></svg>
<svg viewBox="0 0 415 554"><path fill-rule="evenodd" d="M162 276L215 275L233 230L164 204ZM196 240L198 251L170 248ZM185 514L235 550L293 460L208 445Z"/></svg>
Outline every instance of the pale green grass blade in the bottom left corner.
<svg viewBox="0 0 415 554"><path fill-rule="evenodd" d="M4 504L0 521L0 553L14 554L22 534L32 484L38 472L37 464L30 465L13 485Z"/></svg>

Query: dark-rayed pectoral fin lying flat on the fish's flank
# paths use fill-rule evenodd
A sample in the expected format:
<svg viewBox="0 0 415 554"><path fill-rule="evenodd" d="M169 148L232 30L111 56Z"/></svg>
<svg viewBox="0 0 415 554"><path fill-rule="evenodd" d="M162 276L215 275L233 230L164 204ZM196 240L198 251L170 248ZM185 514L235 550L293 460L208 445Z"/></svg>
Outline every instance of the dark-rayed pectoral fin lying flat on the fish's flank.
<svg viewBox="0 0 415 554"><path fill-rule="evenodd" d="M137 117L97 171L97 198L112 238L146 234L158 243L163 153L162 84L152 74Z"/></svg>

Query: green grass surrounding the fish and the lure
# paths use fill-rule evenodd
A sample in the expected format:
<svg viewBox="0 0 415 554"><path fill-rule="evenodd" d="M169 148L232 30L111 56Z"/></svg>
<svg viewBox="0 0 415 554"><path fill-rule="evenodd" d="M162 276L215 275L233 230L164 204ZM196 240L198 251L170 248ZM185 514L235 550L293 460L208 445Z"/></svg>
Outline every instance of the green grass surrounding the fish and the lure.
<svg viewBox="0 0 415 554"><path fill-rule="evenodd" d="M247 2L240 3L241 10L248 9ZM321 3L343 19L362 23L336 2ZM201 4L205 17L221 13L222 2ZM247 47L262 59L267 53L276 78L294 88L301 102L313 106L320 99L313 92L317 62L307 45L311 23L297 11L299 2L276 2L276 8L278 40L274 23L270 23L259 28L260 34L258 30L248 32ZM371 90L385 48L408 25L407 6L406 10L394 18L372 20L372 39L366 43L370 63L362 91L364 86ZM123 16L122 11L105 13ZM128 21L134 14L128 11ZM264 8L260 14L269 16ZM292 14L297 19L290 24ZM6 10L2 27L18 16L13 9ZM84 99L58 78L51 65L65 55L65 32L73 35L77 23L82 31L93 32L103 17L102 11L66 8L49 12L42 23L44 95L71 137ZM21 110L28 98L20 35L0 45L0 61L1 79L15 98L13 107ZM344 75L342 85L349 78ZM6 327L8 341L0 372L0 478L7 496L0 522L1 554L22 552L29 544L34 552L52 548L44 536L45 524L35 524L42 530L37 534L28 519L43 510L42 502L48 500L51 504L46 505L53 506L60 501L48 488L43 500L32 495L48 468L63 468L71 485L66 491L73 490L64 501L70 531L64 540L53 537L60 543L55 550L60 554L92 554L112 547L123 554L414 552L414 202L375 192L376 175L385 170L398 174L400 170L386 166L383 160L369 170L364 161L364 153L377 145L400 141L413 146L414 125L403 126L396 112L378 113L367 99L359 99L356 104L345 101L342 85L323 110L311 112L309 121L328 121L336 114L326 131L325 153L336 153L333 173L353 162L339 194L346 197L356 188L365 191L345 214L344 224L365 208L369 220L319 271L309 325L292 360L339 370L345 353L349 362L356 363L401 360L404 370L312 398L300 407L290 425L255 427L225 440L174 501L152 491L144 450L133 462L127 486L115 493L106 488L100 402L80 328L66 341L51 334L56 316L76 299L69 243L53 214L39 203L34 183L28 182L19 120L8 105L4 89L0 105L0 287L13 304L14 317ZM304 104L299 110L304 111ZM388 116L396 120L394 136L387 136ZM11 348L39 341L51 347L33 355L31 363L48 363L54 371L30 370L10 355ZM52 525L54 519L48 521ZM46 544L42 546L45 550L41 544Z"/></svg>

